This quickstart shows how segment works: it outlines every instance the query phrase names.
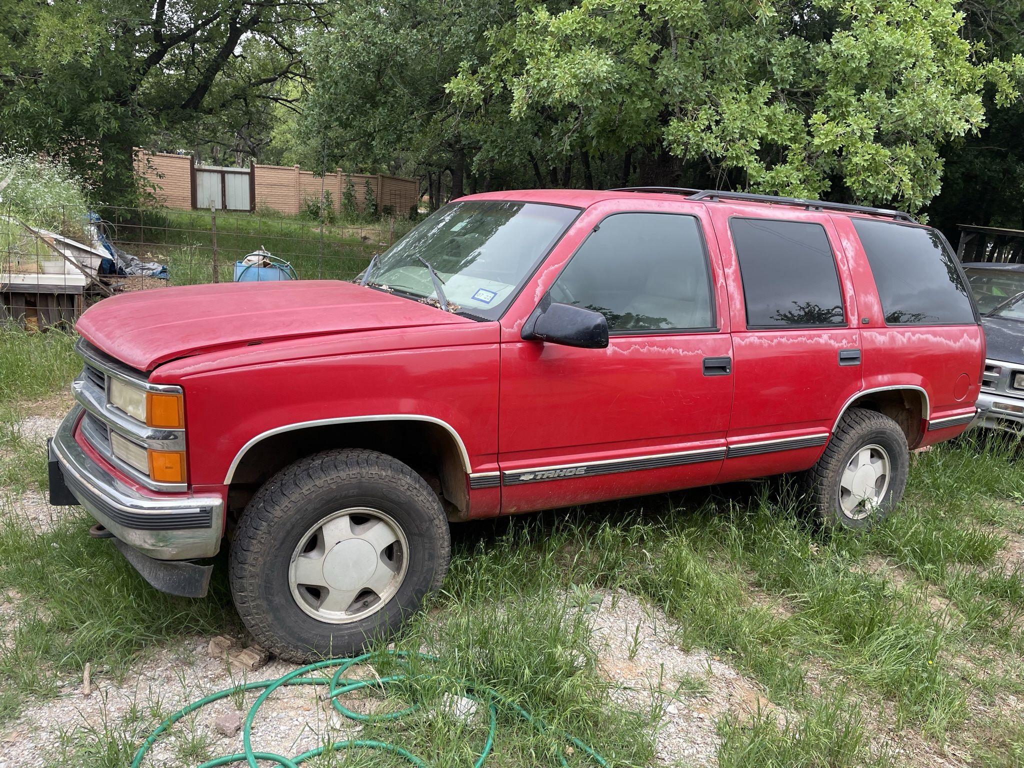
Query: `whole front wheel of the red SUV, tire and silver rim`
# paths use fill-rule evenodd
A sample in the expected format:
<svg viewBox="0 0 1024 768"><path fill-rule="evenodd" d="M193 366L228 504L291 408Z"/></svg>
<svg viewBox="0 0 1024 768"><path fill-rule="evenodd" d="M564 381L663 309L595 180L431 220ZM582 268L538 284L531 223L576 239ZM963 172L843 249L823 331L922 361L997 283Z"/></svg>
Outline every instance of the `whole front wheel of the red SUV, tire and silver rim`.
<svg viewBox="0 0 1024 768"><path fill-rule="evenodd" d="M422 477L384 454L328 451L250 501L231 543L231 595L278 655L352 655L420 607L450 555L444 511Z"/></svg>

